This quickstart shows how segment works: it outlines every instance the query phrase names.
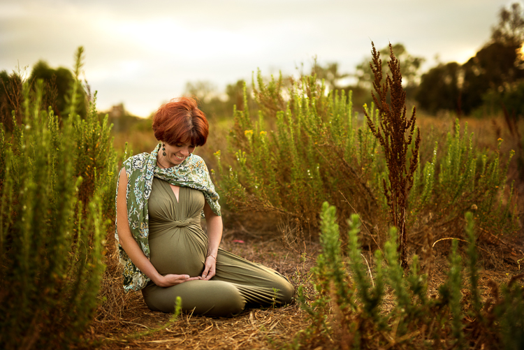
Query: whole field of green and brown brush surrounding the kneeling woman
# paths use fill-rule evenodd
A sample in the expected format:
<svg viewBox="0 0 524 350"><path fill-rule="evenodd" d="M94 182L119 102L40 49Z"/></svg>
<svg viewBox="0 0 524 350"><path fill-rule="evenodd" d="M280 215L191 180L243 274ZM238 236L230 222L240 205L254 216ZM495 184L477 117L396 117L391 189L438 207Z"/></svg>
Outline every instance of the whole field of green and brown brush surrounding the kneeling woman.
<svg viewBox="0 0 524 350"><path fill-rule="evenodd" d="M114 238L116 177L157 145L151 119L86 107L81 66L80 48L68 117L25 84L1 132L3 349L523 349L522 121L415 114L394 74L363 108L314 76L259 75L196 153L221 247L295 298L169 315L124 293Z"/></svg>

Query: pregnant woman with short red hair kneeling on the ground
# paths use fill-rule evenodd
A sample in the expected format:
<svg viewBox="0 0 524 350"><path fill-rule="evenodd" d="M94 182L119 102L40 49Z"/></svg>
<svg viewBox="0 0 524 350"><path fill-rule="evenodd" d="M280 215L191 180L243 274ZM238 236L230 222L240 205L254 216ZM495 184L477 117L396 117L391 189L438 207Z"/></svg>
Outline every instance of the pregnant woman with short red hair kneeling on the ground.
<svg viewBox="0 0 524 350"><path fill-rule="evenodd" d="M152 310L231 317L248 307L284 305L293 286L275 270L219 248L219 196L200 156L208 121L182 97L153 117L160 141L124 161L117 184L117 231L125 291L142 291ZM207 235L201 228L205 214Z"/></svg>

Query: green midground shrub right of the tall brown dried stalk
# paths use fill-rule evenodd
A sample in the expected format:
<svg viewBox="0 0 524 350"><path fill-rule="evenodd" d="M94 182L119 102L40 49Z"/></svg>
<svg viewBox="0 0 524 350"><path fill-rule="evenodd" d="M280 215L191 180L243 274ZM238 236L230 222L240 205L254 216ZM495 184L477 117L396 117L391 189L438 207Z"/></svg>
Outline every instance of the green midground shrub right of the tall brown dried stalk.
<svg viewBox="0 0 524 350"><path fill-rule="evenodd" d="M518 229L514 185L506 191L509 161L502 161L498 140L495 152L473 146L474 134L467 132L467 124L460 132L456 120L453 131L447 133L444 152L437 152L425 164L423 174L415 173L414 189L410 194L410 210L418 214L432 212L427 225L441 226L442 230L456 226L467 210L472 210L480 228L497 234L513 233ZM437 171L438 169L438 171Z"/></svg>

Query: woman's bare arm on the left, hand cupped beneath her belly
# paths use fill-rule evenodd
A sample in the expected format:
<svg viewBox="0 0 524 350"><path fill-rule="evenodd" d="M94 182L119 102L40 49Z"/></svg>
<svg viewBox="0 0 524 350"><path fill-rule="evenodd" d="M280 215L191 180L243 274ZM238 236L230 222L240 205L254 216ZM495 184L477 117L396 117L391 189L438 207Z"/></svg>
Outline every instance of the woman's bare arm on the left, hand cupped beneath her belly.
<svg viewBox="0 0 524 350"><path fill-rule="evenodd" d="M154 268L151 261L145 256L144 252L138 246L138 243L131 234L129 228L129 221L127 218L127 174L123 168L120 171L117 194L117 226L118 239L126 254L131 258L131 261L136 267L149 277L154 284L161 287L173 286L182 282L191 281L193 279L200 279L200 277L189 277L189 275L160 275L156 268Z"/></svg>

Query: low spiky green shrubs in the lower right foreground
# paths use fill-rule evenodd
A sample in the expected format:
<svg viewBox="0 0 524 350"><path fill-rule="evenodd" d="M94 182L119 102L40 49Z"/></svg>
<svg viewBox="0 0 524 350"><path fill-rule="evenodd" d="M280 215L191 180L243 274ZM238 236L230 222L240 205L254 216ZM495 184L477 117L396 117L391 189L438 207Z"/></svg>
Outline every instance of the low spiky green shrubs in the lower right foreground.
<svg viewBox="0 0 524 350"><path fill-rule="evenodd" d="M466 214L470 242L466 265L470 293L463 296L463 268L458 241L453 240L448 277L436 296L428 297L426 276L414 256L404 274L397 252L396 228L384 247L375 253L375 273L367 276L359 250L358 217L349 220L348 261L340 248L335 207L323 204L322 253L312 275L316 296L307 300L299 289L298 300L310 315L311 326L298 333L291 347L314 349L330 344L335 349L520 349L524 289L515 276L507 286L493 284L494 299L481 302L477 284L473 215ZM346 268L346 266L349 268ZM348 272L349 270L349 272ZM393 307L384 307L385 291ZM388 301L391 302L391 298Z"/></svg>

